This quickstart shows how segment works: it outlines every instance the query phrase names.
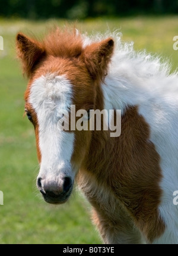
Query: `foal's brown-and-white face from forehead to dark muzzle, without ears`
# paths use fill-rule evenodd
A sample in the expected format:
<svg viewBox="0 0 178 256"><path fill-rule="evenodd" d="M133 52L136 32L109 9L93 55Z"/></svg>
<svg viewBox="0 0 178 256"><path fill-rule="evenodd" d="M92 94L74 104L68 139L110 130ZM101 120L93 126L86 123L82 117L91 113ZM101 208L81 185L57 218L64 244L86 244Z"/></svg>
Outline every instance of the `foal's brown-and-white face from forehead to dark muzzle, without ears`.
<svg viewBox="0 0 178 256"><path fill-rule="evenodd" d="M50 58L53 64L60 63L59 70L49 73L48 60L43 63L44 73L39 68L40 76L28 85L25 110L36 133L40 162L37 187L47 202L58 203L68 199L90 142L90 130L77 130L76 113L94 108L96 92L85 68L76 68L74 76L64 71L65 65L71 70L74 68L70 61ZM87 125L85 115L83 126Z"/></svg>

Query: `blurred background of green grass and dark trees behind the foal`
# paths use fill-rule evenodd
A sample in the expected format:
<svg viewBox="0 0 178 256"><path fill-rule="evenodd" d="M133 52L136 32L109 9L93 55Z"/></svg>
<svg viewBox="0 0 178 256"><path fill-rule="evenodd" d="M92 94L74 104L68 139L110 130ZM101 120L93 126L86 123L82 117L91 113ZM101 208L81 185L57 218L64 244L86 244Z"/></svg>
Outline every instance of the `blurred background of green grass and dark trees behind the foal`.
<svg viewBox="0 0 178 256"><path fill-rule="evenodd" d="M119 30L123 42L169 60L174 71L177 14L177 0L0 0L0 243L101 243L77 188L59 206L47 204L36 189L39 165L33 126L23 118L27 79L15 55L17 32L42 38L53 24L76 20L88 35Z"/></svg>

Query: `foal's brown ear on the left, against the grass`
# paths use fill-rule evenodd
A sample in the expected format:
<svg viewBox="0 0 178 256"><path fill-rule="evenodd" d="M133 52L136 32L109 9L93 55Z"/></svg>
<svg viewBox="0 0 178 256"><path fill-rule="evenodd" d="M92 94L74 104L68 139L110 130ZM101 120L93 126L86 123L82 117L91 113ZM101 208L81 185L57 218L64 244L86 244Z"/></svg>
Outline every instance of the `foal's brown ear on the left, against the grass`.
<svg viewBox="0 0 178 256"><path fill-rule="evenodd" d="M23 72L29 77L34 66L45 54L45 49L39 42L27 38L22 33L18 33L16 36L16 49L17 57L23 64Z"/></svg>

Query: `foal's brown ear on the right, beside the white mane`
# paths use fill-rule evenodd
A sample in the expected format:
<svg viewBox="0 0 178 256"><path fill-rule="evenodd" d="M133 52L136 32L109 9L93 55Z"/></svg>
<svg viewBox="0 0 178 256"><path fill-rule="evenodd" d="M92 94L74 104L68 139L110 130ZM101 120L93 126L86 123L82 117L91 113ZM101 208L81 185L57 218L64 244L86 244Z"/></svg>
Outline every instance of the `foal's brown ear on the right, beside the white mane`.
<svg viewBox="0 0 178 256"><path fill-rule="evenodd" d="M86 46L84 52L82 52L81 57L94 80L102 81L104 79L113 49L114 41L112 38L108 38Z"/></svg>

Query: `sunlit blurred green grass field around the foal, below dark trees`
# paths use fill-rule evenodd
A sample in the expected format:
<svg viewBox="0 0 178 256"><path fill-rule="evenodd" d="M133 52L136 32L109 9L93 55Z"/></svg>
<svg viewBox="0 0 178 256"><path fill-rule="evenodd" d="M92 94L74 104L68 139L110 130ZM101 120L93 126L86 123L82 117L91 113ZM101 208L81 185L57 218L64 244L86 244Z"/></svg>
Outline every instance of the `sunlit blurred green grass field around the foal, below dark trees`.
<svg viewBox="0 0 178 256"><path fill-rule="evenodd" d="M65 205L46 204L36 189L39 170L33 126L23 118L23 94L27 80L15 59L15 35L21 30L41 37L54 23L65 20L0 20L4 51L0 51L0 243L100 243L90 221L90 206L77 189ZM135 49L147 49L170 58L177 67L178 17L134 17L78 22L81 31L92 33L120 29L123 40Z"/></svg>

